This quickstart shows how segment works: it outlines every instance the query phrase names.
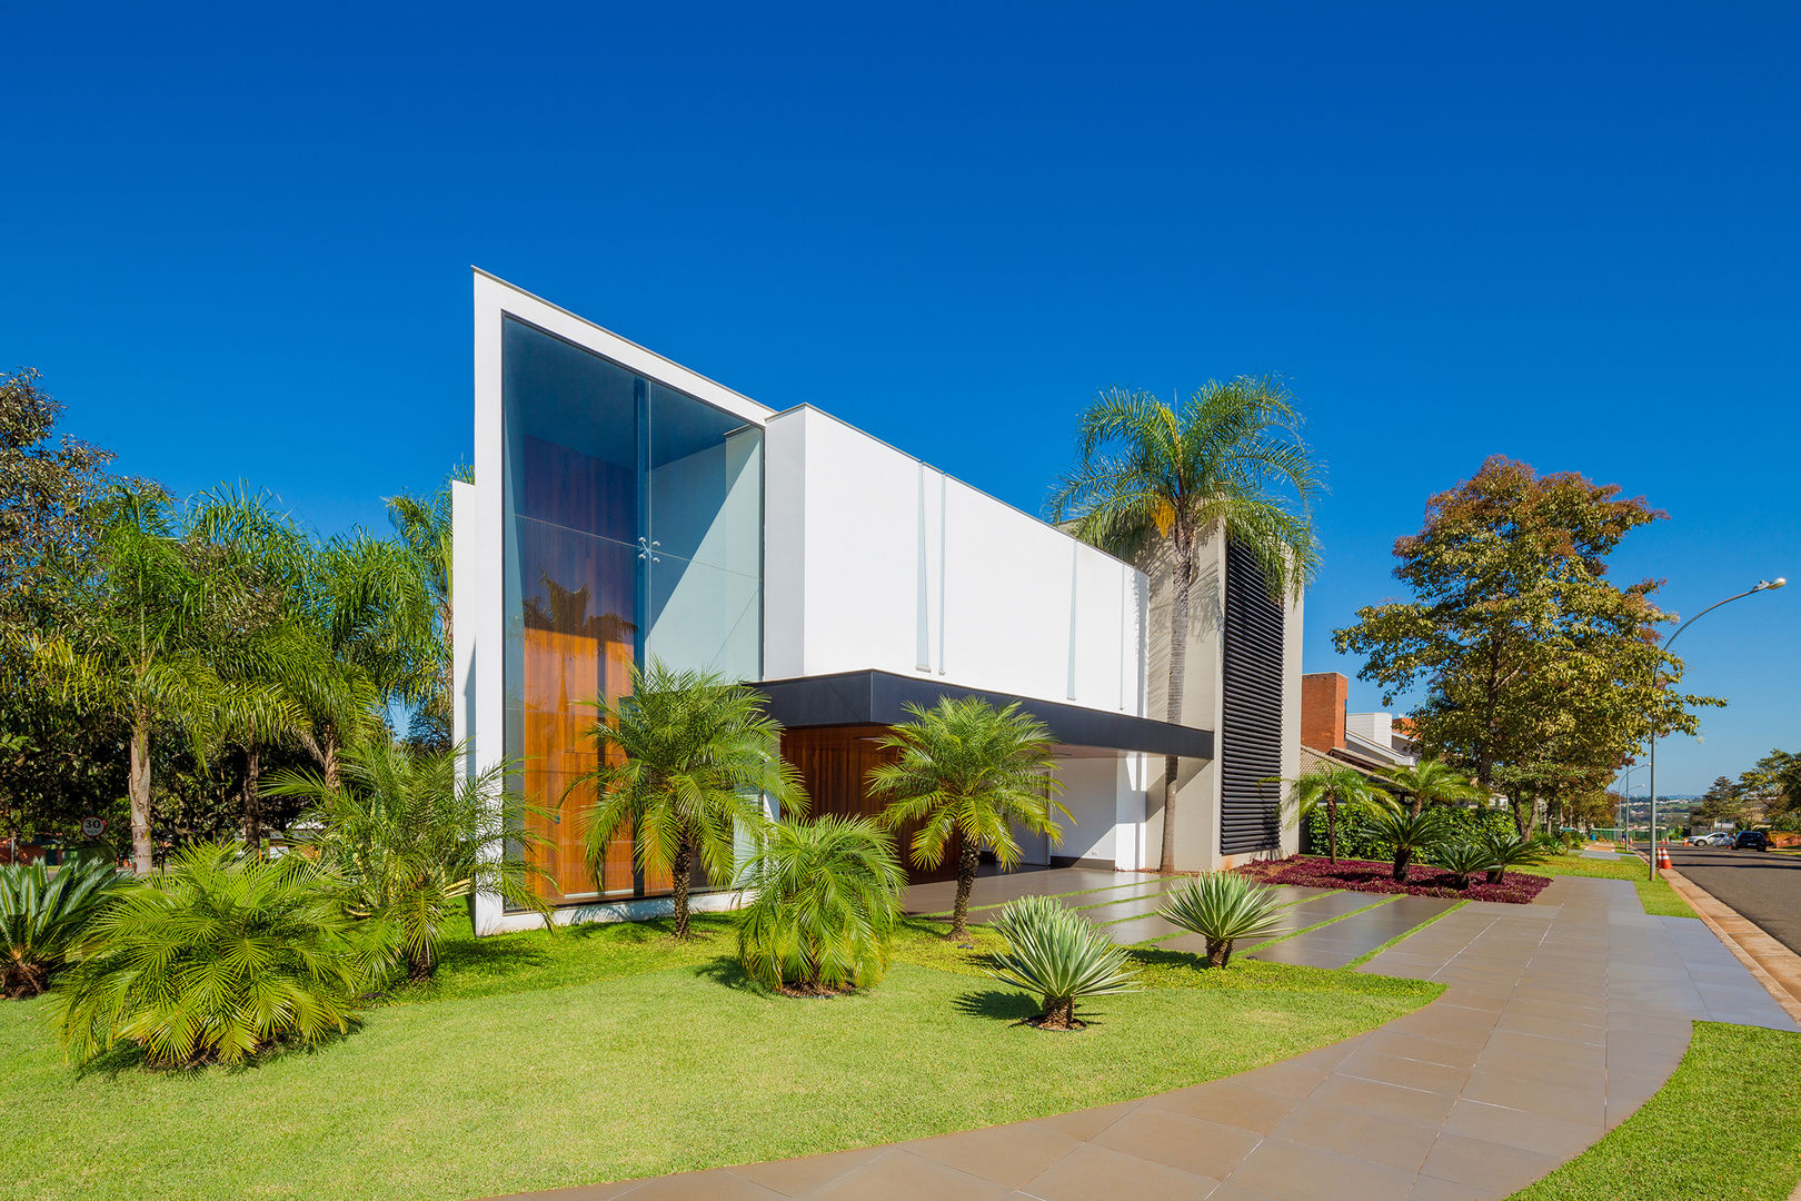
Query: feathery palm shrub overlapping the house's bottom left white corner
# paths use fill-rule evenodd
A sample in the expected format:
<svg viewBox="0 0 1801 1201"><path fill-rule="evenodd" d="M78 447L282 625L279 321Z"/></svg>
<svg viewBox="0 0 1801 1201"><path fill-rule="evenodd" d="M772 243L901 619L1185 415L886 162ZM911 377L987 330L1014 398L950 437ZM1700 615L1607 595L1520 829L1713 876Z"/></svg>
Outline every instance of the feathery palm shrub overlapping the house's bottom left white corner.
<svg viewBox="0 0 1801 1201"><path fill-rule="evenodd" d="M378 738L344 753L337 783L288 771L268 792L312 803L306 819L319 828L308 846L331 893L349 917L371 924L409 980L429 980L445 927L475 893L549 913L531 888L544 870L508 853L508 843L529 852L533 835L508 828L504 772L497 763L468 778L459 749Z"/></svg>

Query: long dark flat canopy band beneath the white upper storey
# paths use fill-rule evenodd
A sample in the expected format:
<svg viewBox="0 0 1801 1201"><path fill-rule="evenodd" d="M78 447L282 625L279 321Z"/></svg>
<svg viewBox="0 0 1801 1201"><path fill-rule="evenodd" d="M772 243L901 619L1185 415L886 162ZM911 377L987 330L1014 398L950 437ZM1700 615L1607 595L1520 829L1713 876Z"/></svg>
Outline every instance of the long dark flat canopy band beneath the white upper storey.
<svg viewBox="0 0 1801 1201"><path fill-rule="evenodd" d="M760 681L756 691L769 697L769 715L789 729L809 726L899 726L910 720L906 704L931 708L940 697L982 697L1007 706L1018 702L1025 713L1045 722L1050 736L1063 745L1104 751L1142 751L1210 760L1214 733L1192 726L1156 722L1129 713L1108 713L1079 704L1010 697L978 688L960 688L935 679L915 679L893 672L839 672Z"/></svg>

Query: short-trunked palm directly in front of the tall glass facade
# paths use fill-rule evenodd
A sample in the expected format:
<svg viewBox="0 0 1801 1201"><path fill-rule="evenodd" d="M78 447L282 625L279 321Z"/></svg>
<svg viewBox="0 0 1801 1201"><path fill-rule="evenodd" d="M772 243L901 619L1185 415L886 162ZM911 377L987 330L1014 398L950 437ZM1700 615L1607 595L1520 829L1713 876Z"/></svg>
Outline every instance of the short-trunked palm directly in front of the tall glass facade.
<svg viewBox="0 0 1801 1201"><path fill-rule="evenodd" d="M738 870L738 837L760 841L760 796L805 812L800 772L782 758L782 726L764 697L711 672L677 672L652 659L632 666L630 695L593 702L598 763L564 794L594 789L584 839L600 875L607 844L630 832L639 868L674 877L675 936L688 936L695 862L715 884Z"/></svg>

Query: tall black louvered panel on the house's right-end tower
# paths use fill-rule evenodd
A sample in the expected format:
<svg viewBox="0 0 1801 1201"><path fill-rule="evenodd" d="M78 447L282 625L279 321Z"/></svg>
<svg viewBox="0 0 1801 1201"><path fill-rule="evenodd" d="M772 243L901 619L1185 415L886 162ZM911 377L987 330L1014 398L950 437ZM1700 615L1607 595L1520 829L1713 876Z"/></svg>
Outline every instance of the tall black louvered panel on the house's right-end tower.
<svg viewBox="0 0 1801 1201"><path fill-rule="evenodd" d="M1219 853L1272 850L1281 841L1282 607L1257 558L1230 542L1221 673Z"/></svg>

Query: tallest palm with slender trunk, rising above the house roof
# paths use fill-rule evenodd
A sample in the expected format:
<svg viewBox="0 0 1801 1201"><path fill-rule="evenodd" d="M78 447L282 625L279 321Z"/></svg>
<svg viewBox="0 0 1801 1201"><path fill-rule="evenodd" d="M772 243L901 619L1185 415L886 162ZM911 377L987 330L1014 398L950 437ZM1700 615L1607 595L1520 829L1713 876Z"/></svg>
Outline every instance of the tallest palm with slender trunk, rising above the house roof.
<svg viewBox="0 0 1801 1201"><path fill-rule="evenodd" d="M1252 376L1208 382L1180 407L1149 393L1108 389L1077 423L1077 463L1052 490L1050 519L1122 558L1136 560L1167 542L1169 722L1181 722L1201 546L1223 531L1255 555L1279 600L1299 598L1318 569L1311 506L1322 484L1299 427L1288 389ZM1176 870L1172 754L1163 760L1158 870Z"/></svg>

